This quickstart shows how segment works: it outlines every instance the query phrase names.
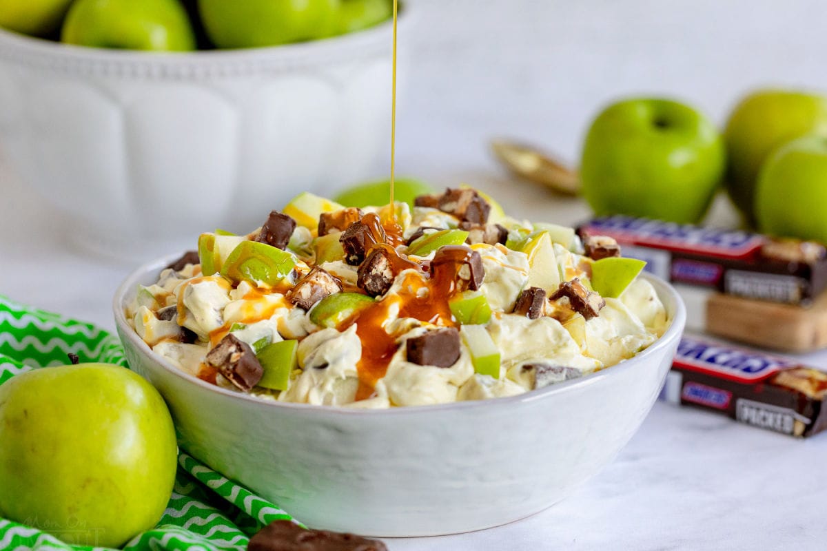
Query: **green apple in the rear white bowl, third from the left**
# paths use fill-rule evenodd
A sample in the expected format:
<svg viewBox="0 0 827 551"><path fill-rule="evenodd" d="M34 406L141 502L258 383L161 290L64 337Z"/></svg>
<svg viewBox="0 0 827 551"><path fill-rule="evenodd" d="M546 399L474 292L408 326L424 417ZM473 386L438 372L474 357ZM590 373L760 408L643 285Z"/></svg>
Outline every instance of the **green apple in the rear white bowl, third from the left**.
<svg viewBox="0 0 827 551"><path fill-rule="evenodd" d="M333 36L341 0L198 0L219 48L256 48Z"/></svg>

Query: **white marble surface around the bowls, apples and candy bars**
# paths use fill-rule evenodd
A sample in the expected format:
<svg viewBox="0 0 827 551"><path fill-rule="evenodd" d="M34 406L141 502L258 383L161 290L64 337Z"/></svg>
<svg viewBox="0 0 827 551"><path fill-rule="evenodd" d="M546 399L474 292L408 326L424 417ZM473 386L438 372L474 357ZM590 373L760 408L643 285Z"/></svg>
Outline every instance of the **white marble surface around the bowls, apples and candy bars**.
<svg viewBox="0 0 827 551"><path fill-rule="evenodd" d="M761 83L827 89L820 0L411 2L422 9L416 34L403 40L411 64L399 172L475 183L528 217L571 223L587 210L505 178L485 150L494 135L576 159L595 107L618 95L676 95L722 121ZM67 245L70 228L3 163L2 145L0 190L0 292L112 329L109 297L141 259L117 263ZM827 353L804 359L827 368ZM825 435L799 441L658 403L614 463L557 506L473 534L387 543L394 551L827 549L825 460Z"/></svg>

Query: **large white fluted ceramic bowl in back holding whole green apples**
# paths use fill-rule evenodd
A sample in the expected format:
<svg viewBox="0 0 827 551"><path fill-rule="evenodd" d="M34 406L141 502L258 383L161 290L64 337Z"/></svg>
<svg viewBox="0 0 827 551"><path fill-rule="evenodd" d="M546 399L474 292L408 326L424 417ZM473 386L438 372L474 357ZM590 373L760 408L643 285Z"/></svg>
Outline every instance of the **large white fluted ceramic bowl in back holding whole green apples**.
<svg viewBox="0 0 827 551"><path fill-rule="evenodd" d="M406 6L400 33L408 21ZM0 29L0 150L89 249L152 258L204 220L246 232L297 190L329 195L388 154L391 39L385 23L158 54Z"/></svg>

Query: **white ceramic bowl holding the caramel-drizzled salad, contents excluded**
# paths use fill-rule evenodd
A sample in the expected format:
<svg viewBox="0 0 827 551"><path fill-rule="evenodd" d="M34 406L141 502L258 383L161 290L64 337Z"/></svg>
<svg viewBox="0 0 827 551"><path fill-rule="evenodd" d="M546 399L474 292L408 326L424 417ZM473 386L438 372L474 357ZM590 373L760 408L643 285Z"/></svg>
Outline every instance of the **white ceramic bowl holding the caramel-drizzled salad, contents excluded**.
<svg viewBox="0 0 827 551"><path fill-rule="evenodd" d="M609 463L652 407L686 322L675 290L644 275L672 320L633 359L518 397L361 411L268 402L174 368L127 324L139 268L114 298L132 369L170 406L180 444L315 528L454 534L542 511Z"/></svg>

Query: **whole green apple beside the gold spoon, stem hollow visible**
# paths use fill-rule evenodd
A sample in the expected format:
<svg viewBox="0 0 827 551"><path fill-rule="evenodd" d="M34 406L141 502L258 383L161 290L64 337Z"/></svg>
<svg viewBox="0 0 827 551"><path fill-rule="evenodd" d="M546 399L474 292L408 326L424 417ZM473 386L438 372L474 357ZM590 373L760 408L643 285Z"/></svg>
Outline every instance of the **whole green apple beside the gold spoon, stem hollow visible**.
<svg viewBox="0 0 827 551"><path fill-rule="evenodd" d="M696 222L724 172L724 144L695 109L629 99L591 124L581 159L583 196L595 214Z"/></svg>

